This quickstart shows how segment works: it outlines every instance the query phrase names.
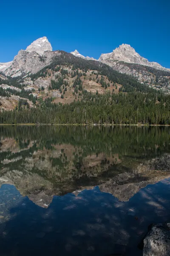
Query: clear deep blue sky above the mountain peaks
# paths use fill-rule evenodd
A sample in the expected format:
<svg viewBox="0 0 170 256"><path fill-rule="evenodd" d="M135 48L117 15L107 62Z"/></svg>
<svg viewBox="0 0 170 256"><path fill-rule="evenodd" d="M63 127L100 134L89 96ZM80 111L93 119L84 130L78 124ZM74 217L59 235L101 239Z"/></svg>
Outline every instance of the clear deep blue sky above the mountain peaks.
<svg viewBox="0 0 170 256"><path fill-rule="evenodd" d="M0 10L0 62L46 36L94 58L130 44L170 68L170 0L2 0Z"/></svg>

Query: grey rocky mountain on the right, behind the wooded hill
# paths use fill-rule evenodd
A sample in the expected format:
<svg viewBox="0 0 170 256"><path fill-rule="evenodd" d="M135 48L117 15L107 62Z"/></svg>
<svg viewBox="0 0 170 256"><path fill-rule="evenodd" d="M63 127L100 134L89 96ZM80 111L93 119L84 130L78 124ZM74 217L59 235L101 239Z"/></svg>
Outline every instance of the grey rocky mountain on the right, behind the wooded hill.
<svg viewBox="0 0 170 256"><path fill-rule="evenodd" d="M114 70L133 76L150 87L170 92L170 69L141 57L128 44L122 44L113 52L102 54L99 61Z"/></svg>

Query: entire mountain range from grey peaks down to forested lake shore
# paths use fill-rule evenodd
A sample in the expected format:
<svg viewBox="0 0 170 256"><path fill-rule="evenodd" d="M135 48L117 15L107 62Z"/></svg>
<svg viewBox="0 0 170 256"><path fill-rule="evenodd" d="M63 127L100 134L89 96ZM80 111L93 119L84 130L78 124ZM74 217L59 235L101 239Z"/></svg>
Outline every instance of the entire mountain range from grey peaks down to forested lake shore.
<svg viewBox="0 0 170 256"><path fill-rule="evenodd" d="M96 61L47 50L51 44L39 38L0 73L0 110L15 111L1 111L0 122L169 124L170 96L162 91L170 92L170 72L122 61L139 61L126 47L127 54L121 46Z"/></svg>

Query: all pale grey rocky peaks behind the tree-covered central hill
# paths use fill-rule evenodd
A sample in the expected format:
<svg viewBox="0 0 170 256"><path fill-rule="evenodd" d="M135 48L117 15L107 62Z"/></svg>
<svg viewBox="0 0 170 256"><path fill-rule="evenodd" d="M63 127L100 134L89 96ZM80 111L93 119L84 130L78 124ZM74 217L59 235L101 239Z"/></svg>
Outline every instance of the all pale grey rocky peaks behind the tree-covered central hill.
<svg viewBox="0 0 170 256"><path fill-rule="evenodd" d="M14 57L14 61L1 63L0 71L11 77L37 73L51 64L57 54L60 54L59 51L52 51L48 39L42 37L31 43L26 50L20 50ZM96 61L92 57L83 56L77 50L71 54L82 59ZM111 53L102 54L98 61L109 65L113 70L133 76L150 87L167 93L170 91L170 69L156 62L149 62L128 44L120 45Z"/></svg>

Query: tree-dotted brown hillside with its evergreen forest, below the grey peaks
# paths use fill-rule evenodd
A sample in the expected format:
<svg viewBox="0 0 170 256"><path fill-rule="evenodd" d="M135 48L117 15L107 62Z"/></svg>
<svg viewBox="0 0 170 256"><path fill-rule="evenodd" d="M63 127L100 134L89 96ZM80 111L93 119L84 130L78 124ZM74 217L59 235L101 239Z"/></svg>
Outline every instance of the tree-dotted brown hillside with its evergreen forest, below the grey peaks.
<svg viewBox="0 0 170 256"><path fill-rule="evenodd" d="M3 80L4 83L4 80ZM36 74L7 79L20 91L1 90L22 100L13 111L1 111L1 124L170 124L170 96L99 61L60 51Z"/></svg>

